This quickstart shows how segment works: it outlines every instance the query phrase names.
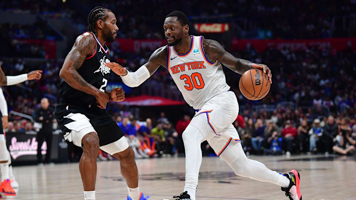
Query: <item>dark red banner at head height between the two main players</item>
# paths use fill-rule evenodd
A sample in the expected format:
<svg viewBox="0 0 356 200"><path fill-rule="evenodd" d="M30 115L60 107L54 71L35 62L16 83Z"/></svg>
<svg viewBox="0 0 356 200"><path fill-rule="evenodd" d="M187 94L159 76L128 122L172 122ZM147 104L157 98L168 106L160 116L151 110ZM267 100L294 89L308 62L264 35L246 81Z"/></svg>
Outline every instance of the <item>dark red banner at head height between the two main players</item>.
<svg viewBox="0 0 356 200"><path fill-rule="evenodd" d="M116 39L120 43L121 50L127 52L139 52L140 50L156 50L158 47L167 44L167 40L133 40L133 39Z"/></svg>

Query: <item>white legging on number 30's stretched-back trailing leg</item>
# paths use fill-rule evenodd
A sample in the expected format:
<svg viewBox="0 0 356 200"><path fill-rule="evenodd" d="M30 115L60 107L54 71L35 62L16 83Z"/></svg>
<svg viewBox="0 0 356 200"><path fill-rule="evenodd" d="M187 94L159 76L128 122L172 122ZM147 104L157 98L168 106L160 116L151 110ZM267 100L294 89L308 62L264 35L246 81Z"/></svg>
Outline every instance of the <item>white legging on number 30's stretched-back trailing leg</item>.
<svg viewBox="0 0 356 200"><path fill-rule="evenodd" d="M243 153L241 143L228 145L220 157L238 176L273 183L283 188L289 186L290 181L284 175L268 169L266 165L259 161L248 159ZM231 160L235 161L231 162Z"/></svg>

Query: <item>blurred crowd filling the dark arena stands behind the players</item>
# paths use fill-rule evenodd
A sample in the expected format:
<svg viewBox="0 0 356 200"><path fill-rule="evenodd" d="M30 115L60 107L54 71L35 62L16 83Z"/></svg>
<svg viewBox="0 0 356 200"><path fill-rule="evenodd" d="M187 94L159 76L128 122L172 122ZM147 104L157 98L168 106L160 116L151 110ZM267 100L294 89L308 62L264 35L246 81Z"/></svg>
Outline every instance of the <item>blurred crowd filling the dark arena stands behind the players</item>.
<svg viewBox="0 0 356 200"><path fill-rule="evenodd" d="M355 150L355 43L349 42L338 50L332 45L268 45L263 51L252 45L236 49L229 43L232 39L352 39L356 35L355 0L296 0L293 6L283 0L106 0L99 4L116 14L119 40L164 40L162 24L166 14L181 10L189 17L191 34L221 41L238 58L267 64L273 84L260 101L244 98L238 88L240 75L224 68L227 83L240 105L234 126L246 153L346 155ZM63 59L75 38L86 31L90 9L99 4L90 0L0 2L0 15L10 16L0 20L0 61L5 75L43 70L41 80L2 87L8 110L13 111L6 132L36 131L33 119L40 100L46 97L50 107L56 105ZM20 20L23 16L29 16L28 22ZM228 23L230 28L226 33L202 34L193 28L194 23ZM226 38L231 40L227 42ZM153 52L149 47L124 50L119 40L108 44L112 61L131 71L144 64ZM55 47L51 47L53 42ZM113 73L109 82L123 84ZM130 90L127 97L145 94L183 100L165 68ZM184 154L181 134L194 116L187 105L140 107L110 102L108 110L127 135L136 158ZM53 122L56 129L56 121ZM215 155L207 143L202 144L202 149L205 156ZM78 159L78 154L80 150L74 150L70 159ZM99 159L113 158L102 152Z"/></svg>

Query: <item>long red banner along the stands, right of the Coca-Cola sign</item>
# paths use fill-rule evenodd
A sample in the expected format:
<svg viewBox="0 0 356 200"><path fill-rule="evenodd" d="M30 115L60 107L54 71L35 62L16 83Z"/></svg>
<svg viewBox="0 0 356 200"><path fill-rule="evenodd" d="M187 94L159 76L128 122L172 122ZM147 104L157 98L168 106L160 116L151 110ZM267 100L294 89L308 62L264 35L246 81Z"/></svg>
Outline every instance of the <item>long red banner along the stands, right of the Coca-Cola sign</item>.
<svg viewBox="0 0 356 200"><path fill-rule="evenodd" d="M356 38L330 38L318 40L238 40L234 38L231 41L231 50L243 50L247 46L251 46L258 52L263 52L267 47L273 46L277 49L288 47L292 50L306 49L308 46L331 47L334 50L340 51L348 46L356 49Z"/></svg>

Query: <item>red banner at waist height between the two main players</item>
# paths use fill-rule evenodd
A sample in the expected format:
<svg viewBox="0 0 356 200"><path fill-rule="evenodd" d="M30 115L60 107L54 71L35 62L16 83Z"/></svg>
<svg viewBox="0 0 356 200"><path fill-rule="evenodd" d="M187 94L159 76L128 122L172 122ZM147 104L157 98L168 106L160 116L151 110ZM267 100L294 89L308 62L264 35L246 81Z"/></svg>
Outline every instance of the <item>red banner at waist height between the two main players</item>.
<svg viewBox="0 0 356 200"><path fill-rule="evenodd" d="M127 97L125 98L125 101L117 102L117 103L122 105L129 105L129 106L178 106L178 105L185 104L184 101L175 101L160 96L148 96L148 95Z"/></svg>

